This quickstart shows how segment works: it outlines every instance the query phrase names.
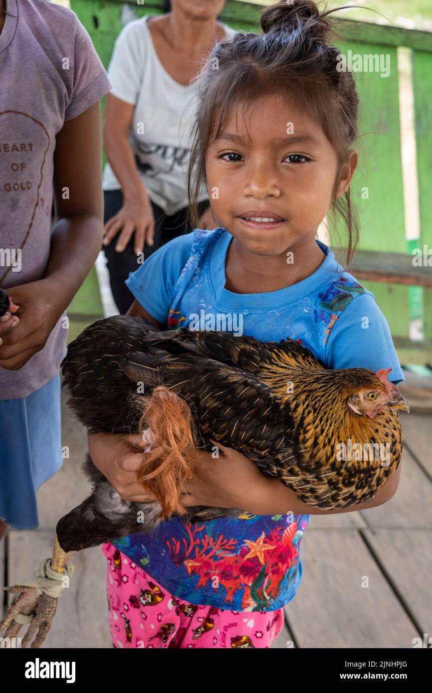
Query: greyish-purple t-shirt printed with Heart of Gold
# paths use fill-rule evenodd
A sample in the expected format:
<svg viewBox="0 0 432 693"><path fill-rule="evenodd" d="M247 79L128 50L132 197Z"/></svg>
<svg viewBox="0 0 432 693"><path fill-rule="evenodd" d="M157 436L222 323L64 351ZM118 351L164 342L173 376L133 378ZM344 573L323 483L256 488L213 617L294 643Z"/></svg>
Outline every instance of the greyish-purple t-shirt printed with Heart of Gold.
<svg viewBox="0 0 432 693"><path fill-rule="evenodd" d="M7 0L6 12L0 34L0 287L13 299L13 287L42 279L48 263L55 137L64 121L96 103L111 84L74 12L48 0ZM1 400L25 397L58 373L64 325L62 316L44 349L21 369L0 367Z"/></svg>

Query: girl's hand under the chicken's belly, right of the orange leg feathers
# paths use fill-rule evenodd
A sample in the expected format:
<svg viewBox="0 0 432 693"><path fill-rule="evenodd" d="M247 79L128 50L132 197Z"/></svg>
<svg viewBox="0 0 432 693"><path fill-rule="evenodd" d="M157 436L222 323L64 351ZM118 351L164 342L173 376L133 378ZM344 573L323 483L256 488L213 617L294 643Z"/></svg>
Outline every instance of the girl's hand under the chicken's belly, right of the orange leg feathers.
<svg viewBox="0 0 432 693"><path fill-rule="evenodd" d="M187 483L183 505L250 510L248 502L252 504L252 499L262 495L271 480L245 455L211 442L219 448L219 457L211 457L212 453L206 451L198 453L196 479Z"/></svg>

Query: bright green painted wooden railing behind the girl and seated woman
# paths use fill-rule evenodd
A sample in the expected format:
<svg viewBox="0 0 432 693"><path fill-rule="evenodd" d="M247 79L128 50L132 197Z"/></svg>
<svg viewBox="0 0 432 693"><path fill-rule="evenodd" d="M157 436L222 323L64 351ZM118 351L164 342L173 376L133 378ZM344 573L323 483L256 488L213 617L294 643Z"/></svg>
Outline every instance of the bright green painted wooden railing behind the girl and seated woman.
<svg viewBox="0 0 432 693"><path fill-rule="evenodd" d="M121 30L125 11L133 9L136 17L159 14L163 1L153 0L145 6L121 0L71 0L76 12L92 37L94 46L105 67L110 61L114 40ZM259 30L262 7L239 0L227 0L221 19L239 30ZM343 21L336 41L341 53L390 55L390 75L382 78L379 72L356 72L356 84L361 101L359 132L356 143L360 164L352 182L352 198L360 216L361 251L381 253L382 266L390 262L388 254L411 256L412 247L432 248L432 34L392 26L360 24ZM408 244L404 228L404 189L401 163L401 134L399 123L399 76L397 48L411 49L415 109L415 139L417 149L417 178L420 205L420 238ZM368 199L364 188L368 188ZM362 194L363 191L363 194ZM332 245L343 245L343 236ZM406 261L406 258L404 258ZM392 258L394 261L394 258ZM377 258L375 258L377 262ZM431 258L432 262L432 258ZM425 272L424 268L422 270ZM426 270L427 272L427 270ZM432 274L432 267L430 267ZM371 290L388 319L401 363L432 362L432 288L427 283L420 288L423 340L409 339L409 324L413 317L408 283L395 281L360 280ZM421 280L413 283L422 283ZM429 287L431 284L429 283ZM84 297L84 299L83 299ZM417 295L418 298L418 295ZM79 306L79 308L78 308ZM95 284L94 270L78 293L70 313L71 338L78 328L92 322L101 314L101 300ZM90 319L91 318L91 319Z"/></svg>

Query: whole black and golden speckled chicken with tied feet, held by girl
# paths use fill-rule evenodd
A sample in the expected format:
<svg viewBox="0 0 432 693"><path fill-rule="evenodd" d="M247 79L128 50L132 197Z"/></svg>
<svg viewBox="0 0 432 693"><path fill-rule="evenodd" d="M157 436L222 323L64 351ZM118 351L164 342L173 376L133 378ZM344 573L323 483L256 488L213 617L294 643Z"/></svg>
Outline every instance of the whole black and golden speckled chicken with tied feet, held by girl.
<svg viewBox="0 0 432 693"><path fill-rule="evenodd" d="M211 450L211 440L239 450L311 507L342 509L370 498L399 465L397 410L409 411L388 380L390 370L326 369L293 340L161 332L141 317L118 315L87 327L62 362L69 405L90 432L149 430L137 476L157 502L122 500L87 455L92 493L60 519L51 568L61 574L75 551L151 532L173 514L186 523L239 516L241 509L182 507L197 450ZM30 588L0 623L12 633L20 608L36 612L33 647L43 642L55 611L51 597L42 606L36 597Z"/></svg>

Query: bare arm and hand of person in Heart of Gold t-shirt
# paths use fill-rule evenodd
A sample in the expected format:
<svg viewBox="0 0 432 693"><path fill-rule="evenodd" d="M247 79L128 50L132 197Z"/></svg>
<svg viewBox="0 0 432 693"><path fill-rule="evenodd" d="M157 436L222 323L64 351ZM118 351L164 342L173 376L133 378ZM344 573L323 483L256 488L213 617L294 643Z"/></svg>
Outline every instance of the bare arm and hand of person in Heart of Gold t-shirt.
<svg viewBox="0 0 432 693"><path fill-rule="evenodd" d="M49 261L42 279L10 289L19 305L19 324L3 337L3 368L17 370L44 348L96 260L103 234L101 159L97 102L66 121L58 133L53 179L57 218Z"/></svg>

